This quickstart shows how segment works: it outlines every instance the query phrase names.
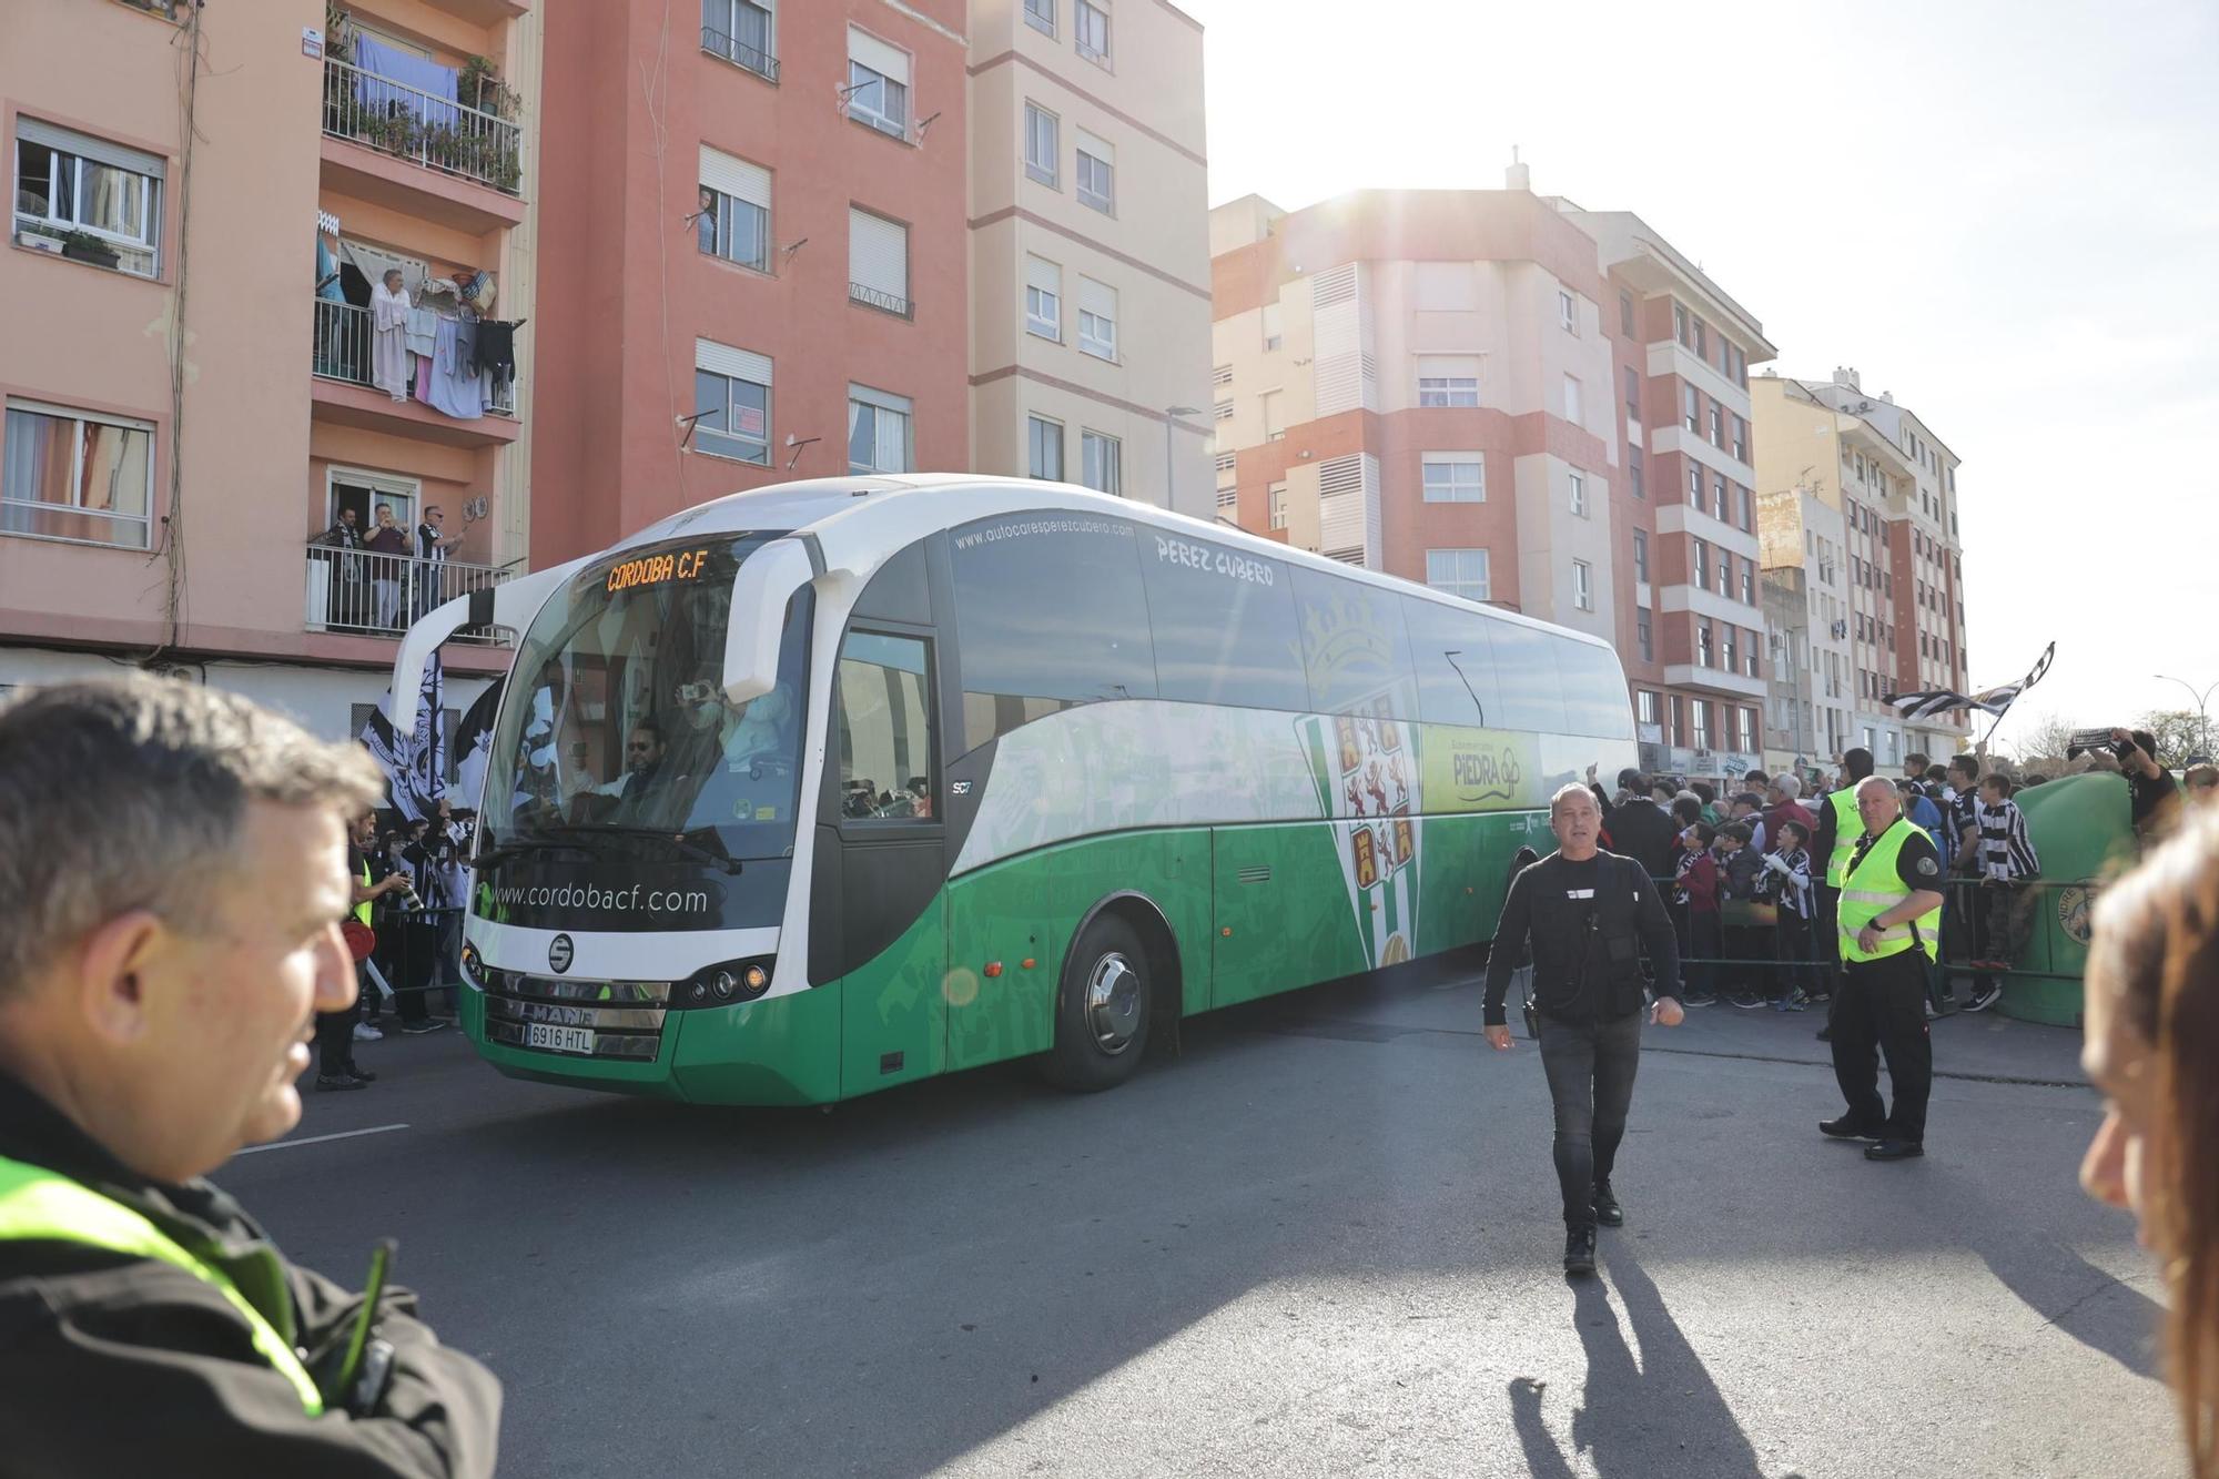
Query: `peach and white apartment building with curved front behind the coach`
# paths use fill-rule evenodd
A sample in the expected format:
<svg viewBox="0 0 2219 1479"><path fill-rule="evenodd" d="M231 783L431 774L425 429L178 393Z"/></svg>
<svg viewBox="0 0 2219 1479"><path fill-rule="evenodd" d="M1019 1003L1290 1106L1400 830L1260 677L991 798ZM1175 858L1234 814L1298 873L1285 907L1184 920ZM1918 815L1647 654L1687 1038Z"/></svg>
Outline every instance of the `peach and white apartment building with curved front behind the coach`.
<svg viewBox="0 0 2219 1479"><path fill-rule="evenodd" d="M1762 764L1762 324L1529 189L1212 213L1218 515L1615 644L1642 764Z"/></svg>

